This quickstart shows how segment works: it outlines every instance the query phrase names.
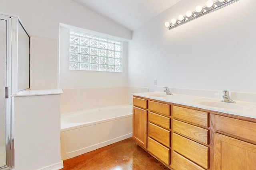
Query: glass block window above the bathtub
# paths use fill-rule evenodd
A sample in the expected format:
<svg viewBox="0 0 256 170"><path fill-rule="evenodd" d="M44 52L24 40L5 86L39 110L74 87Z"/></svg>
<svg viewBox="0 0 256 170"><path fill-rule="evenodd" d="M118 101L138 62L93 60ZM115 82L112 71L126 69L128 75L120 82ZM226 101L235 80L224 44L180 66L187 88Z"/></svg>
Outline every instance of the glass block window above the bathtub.
<svg viewBox="0 0 256 170"><path fill-rule="evenodd" d="M122 41L70 31L70 70L122 72Z"/></svg>

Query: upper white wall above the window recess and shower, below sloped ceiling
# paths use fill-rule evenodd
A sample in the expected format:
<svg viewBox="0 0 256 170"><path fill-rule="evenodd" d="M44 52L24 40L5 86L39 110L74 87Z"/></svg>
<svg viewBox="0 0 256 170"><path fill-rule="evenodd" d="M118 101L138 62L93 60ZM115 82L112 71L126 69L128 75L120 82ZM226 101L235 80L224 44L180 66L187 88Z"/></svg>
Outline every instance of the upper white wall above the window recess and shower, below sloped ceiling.
<svg viewBox="0 0 256 170"><path fill-rule="evenodd" d="M72 0L1 0L1 12L20 17L30 35L58 39L59 23L131 39L130 30ZM104 25L104 27L102 27Z"/></svg>

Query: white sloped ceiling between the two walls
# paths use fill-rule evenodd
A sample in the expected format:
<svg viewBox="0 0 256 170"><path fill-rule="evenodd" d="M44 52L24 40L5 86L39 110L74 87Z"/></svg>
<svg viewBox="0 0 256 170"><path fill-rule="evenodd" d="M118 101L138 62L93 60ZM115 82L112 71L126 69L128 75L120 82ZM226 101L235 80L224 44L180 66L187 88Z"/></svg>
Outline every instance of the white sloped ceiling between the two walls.
<svg viewBox="0 0 256 170"><path fill-rule="evenodd" d="M180 0L73 1L133 31Z"/></svg>

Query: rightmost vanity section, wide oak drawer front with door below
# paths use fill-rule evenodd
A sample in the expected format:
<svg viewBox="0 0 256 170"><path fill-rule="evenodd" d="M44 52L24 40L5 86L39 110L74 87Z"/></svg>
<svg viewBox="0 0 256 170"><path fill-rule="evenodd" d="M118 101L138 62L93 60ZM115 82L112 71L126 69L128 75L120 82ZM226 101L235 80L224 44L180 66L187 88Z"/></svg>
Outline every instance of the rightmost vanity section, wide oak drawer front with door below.
<svg viewBox="0 0 256 170"><path fill-rule="evenodd" d="M256 123L215 115L215 131L215 170L256 169Z"/></svg>

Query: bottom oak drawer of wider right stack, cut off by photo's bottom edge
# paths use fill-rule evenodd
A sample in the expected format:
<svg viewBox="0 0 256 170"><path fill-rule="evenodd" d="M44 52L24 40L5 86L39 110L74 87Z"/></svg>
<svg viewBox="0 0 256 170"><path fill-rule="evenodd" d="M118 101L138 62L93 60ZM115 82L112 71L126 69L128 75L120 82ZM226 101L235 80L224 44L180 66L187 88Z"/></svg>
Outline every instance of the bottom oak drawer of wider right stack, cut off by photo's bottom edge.
<svg viewBox="0 0 256 170"><path fill-rule="evenodd" d="M201 166L198 166L197 164L181 156L177 152L173 152L172 156L172 168L174 168L175 170L205 170Z"/></svg>

